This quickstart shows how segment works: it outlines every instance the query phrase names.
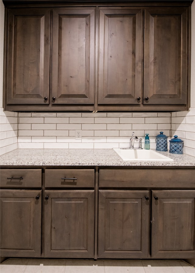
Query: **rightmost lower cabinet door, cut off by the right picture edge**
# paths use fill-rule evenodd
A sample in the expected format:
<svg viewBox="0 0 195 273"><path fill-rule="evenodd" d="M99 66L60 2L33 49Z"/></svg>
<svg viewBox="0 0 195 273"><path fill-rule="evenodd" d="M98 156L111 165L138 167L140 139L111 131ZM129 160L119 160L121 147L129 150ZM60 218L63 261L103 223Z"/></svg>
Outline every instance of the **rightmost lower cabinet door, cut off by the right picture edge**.
<svg viewBox="0 0 195 273"><path fill-rule="evenodd" d="M152 258L195 257L195 190L152 191Z"/></svg>

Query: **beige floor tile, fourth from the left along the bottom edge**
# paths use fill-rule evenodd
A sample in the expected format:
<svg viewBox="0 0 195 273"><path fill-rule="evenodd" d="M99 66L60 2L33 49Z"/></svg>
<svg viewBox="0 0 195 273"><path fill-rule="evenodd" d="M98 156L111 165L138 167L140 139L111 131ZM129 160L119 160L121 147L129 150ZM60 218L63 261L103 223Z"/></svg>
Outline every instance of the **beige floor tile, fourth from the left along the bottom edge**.
<svg viewBox="0 0 195 273"><path fill-rule="evenodd" d="M105 273L145 273L141 261L104 261Z"/></svg>

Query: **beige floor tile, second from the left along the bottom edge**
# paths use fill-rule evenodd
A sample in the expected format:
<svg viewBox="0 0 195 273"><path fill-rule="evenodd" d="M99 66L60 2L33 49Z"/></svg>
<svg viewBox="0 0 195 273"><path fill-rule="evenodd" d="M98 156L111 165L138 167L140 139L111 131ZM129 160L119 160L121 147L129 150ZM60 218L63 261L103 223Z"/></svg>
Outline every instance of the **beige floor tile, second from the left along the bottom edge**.
<svg viewBox="0 0 195 273"><path fill-rule="evenodd" d="M64 273L65 260L35 259L29 260L24 273Z"/></svg>

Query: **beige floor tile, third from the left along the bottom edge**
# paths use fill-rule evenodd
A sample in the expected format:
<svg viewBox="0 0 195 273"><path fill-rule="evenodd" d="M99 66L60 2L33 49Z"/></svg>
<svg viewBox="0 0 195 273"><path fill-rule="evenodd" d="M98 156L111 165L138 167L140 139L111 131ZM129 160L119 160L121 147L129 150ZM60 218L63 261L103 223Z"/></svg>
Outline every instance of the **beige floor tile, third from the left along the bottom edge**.
<svg viewBox="0 0 195 273"><path fill-rule="evenodd" d="M66 261L65 273L105 273L103 261Z"/></svg>

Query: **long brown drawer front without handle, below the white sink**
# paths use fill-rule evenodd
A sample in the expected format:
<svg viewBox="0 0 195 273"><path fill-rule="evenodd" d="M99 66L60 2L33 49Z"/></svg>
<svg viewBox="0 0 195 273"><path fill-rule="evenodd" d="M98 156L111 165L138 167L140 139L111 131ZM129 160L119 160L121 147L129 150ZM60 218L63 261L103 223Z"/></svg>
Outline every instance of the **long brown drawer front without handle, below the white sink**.
<svg viewBox="0 0 195 273"><path fill-rule="evenodd" d="M195 188L195 169L100 169L99 187Z"/></svg>

